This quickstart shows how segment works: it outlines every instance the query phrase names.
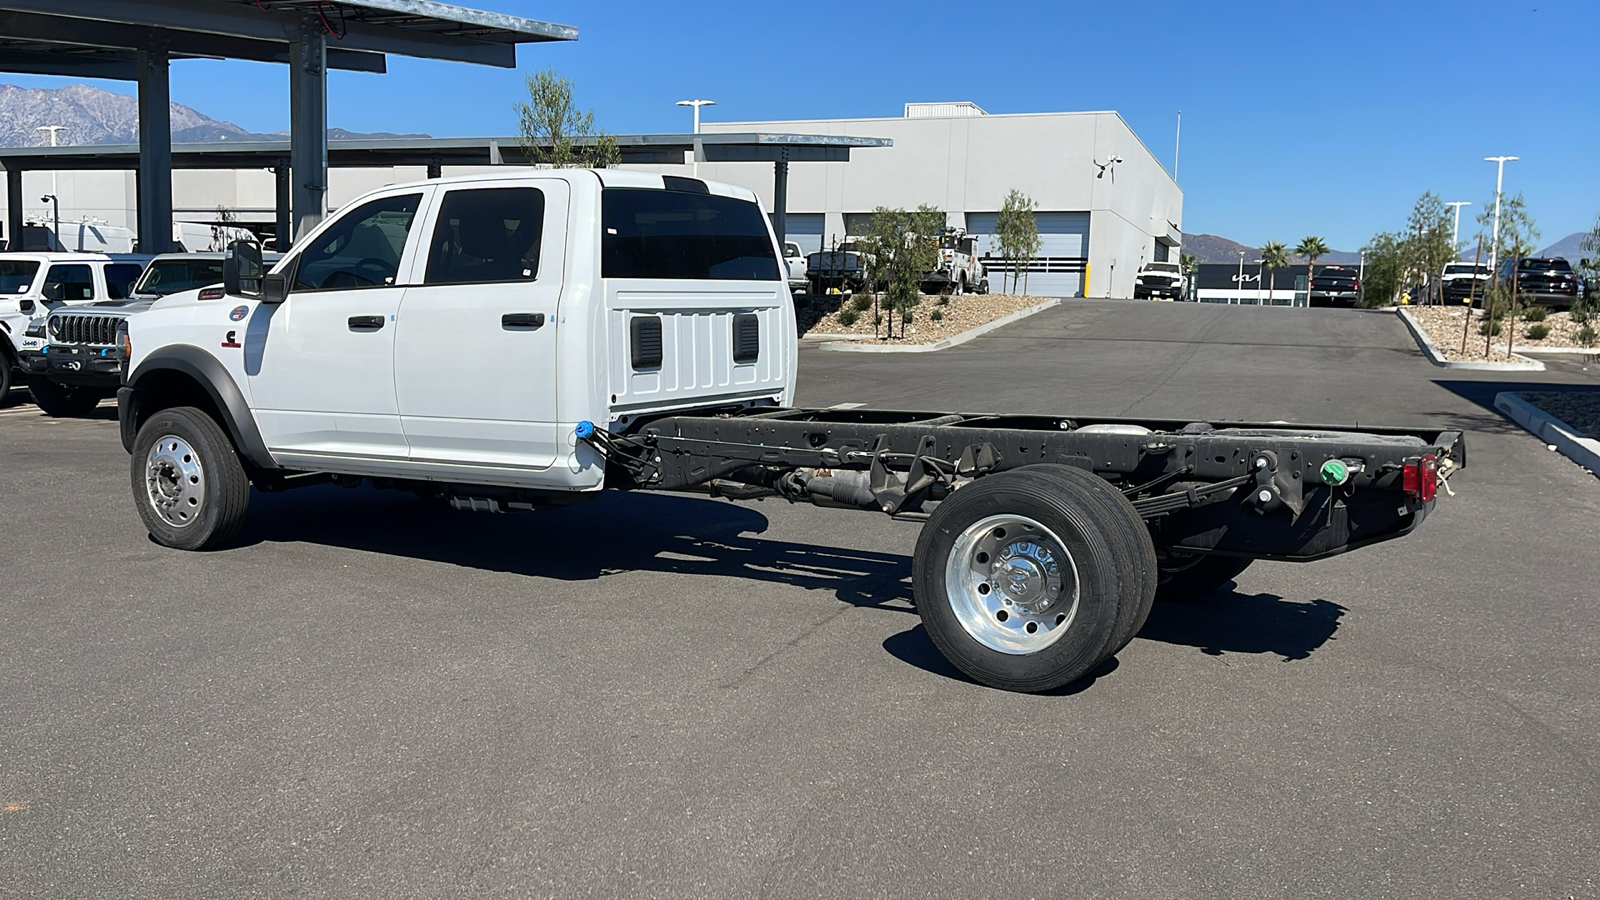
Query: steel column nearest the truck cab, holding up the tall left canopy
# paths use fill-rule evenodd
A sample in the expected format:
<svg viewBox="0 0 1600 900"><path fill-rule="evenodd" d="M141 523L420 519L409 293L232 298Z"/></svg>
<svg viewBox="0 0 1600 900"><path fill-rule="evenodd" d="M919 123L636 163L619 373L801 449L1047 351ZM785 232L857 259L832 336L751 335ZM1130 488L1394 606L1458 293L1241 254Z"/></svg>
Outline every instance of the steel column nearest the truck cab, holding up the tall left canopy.
<svg viewBox="0 0 1600 900"><path fill-rule="evenodd" d="M328 211L328 34L317 16L290 45L290 168L294 240Z"/></svg>

